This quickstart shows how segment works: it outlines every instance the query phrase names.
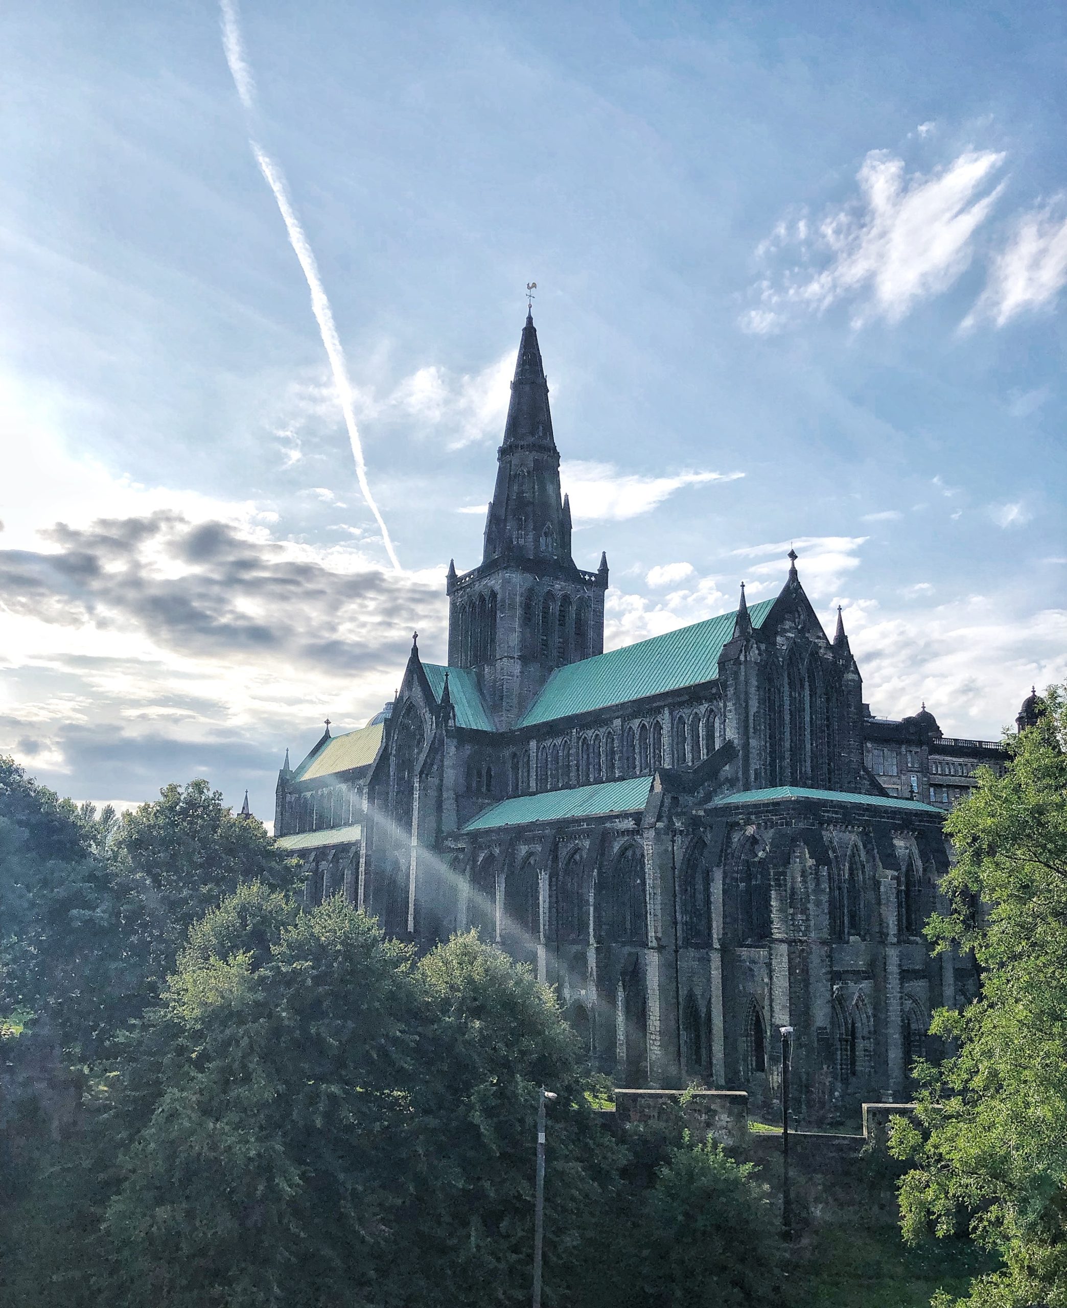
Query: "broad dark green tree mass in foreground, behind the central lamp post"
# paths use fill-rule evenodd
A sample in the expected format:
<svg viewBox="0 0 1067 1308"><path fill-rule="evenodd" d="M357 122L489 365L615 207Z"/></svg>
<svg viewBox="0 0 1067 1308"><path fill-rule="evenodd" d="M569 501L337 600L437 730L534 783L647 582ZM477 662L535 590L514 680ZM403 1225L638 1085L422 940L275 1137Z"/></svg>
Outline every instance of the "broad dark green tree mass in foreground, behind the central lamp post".
<svg viewBox="0 0 1067 1308"><path fill-rule="evenodd" d="M340 897L246 886L124 1046L17 1236L78 1266L54 1253L44 1286L24 1266L13 1304L78 1301L90 1271L99 1301L163 1308L522 1304L541 1082L545 1304L578 1301L616 1147L554 997L476 937L416 964Z"/></svg>

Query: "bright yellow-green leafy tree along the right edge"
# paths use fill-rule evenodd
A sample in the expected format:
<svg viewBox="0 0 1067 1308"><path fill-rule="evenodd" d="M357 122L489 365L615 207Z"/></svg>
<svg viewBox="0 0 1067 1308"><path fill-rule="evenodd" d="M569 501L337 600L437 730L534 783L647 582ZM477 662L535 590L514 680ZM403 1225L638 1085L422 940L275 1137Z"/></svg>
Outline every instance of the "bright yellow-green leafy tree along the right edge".
<svg viewBox="0 0 1067 1308"><path fill-rule="evenodd" d="M921 1070L918 1125L894 1125L914 1163L901 1182L905 1235L962 1222L1004 1260L973 1282L974 1308L1067 1304L1067 706L1047 692L1040 722L1008 738L945 823L957 861L951 908L928 934L973 950L981 995L931 1029L952 1057Z"/></svg>

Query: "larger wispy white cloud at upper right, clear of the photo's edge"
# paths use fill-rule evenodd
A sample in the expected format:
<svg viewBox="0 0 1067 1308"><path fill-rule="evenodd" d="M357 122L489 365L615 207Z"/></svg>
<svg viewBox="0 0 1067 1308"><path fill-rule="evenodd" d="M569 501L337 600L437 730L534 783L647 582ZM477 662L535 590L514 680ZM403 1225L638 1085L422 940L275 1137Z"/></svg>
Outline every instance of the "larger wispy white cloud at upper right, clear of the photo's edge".
<svg viewBox="0 0 1067 1308"><path fill-rule="evenodd" d="M778 281L760 283L760 306L741 326L766 334L798 314L822 313L862 293L856 324L871 315L900 322L919 300L940 294L966 268L972 237L1003 190L987 190L1003 161L992 150L969 150L932 175L909 177L904 160L872 150L856 177L859 198L829 213L811 246L808 228L798 224L758 247L757 256L765 258L783 243L799 245L802 263ZM819 255L824 267L815 268Z"/></svg>

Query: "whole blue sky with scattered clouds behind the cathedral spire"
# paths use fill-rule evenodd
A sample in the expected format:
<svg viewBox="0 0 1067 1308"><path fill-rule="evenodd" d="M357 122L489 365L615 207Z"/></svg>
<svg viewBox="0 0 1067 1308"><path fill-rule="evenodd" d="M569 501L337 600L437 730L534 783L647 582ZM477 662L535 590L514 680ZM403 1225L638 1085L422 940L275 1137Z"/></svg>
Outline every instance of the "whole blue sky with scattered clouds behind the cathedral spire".
<svg viewBox="0 0 1067 1308"><path fill-rule="evenodd" d="M0 749L269 815L412 627L443 657L528 280L609 644L773 594L794 542L877 713L995 736L1067 676L1060 5L239 24L251 114L207 0L0 17Z"/></svg>

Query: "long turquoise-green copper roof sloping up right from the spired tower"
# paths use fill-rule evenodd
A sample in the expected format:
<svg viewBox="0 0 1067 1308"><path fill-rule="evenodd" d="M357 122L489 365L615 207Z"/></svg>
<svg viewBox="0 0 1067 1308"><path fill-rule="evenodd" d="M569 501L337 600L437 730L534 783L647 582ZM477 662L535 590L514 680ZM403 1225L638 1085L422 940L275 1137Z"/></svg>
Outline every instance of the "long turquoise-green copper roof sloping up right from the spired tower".
<svg viewBox="0 0 1067 1308"><path fill-rule="evenodd" d="M761 599L749 607L753 627L762 625L773 604L773 599ZM734 634L736 617L736 611L719 613L664 636L557 667L519 726L713 681L719 675L719 653Z"/></svg>

